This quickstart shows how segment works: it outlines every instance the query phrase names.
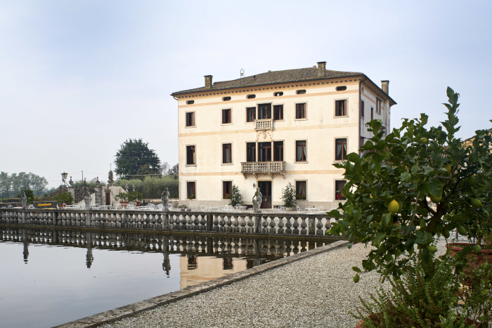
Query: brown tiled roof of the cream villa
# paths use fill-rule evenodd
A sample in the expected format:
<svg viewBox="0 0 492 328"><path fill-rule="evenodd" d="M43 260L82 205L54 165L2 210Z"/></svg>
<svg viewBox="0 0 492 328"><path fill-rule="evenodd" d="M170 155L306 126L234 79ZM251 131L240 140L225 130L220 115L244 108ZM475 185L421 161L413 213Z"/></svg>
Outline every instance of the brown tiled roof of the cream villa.
<svg viewBox="0 0 492 328"><path fill-rule="evenodd" d="M189 90L183 90L174 92L171 95L181 95L183 93L195 93L202 91L216 91L224 90L228 88L242 88L247 86L264 86L266 84L279 84L297 81L311 81L316 79L333 79L337 77L358 77L363 75L359 72L340 72L333 70L326 70L325 77L318 77L318 68L299 68L297 70L283 70L275 72L266 72L251 77L245 77L242 79L235 79L231 81L219 81L212 85L212 88L205 88L202 86L200 88L192 88Z"/></svg>

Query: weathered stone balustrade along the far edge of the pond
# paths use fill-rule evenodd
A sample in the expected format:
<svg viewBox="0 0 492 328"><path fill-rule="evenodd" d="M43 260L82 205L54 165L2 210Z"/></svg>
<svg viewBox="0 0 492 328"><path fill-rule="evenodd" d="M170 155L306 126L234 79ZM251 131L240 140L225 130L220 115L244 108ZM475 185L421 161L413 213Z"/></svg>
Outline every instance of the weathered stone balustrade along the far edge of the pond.
<svg viewBox="0 0 492 328"><path fill-rule="evenodd" d="M268 235L318 235L330 228L326 214L250 211L135 211L81 209L0 209L0 224L93 228L187 230Z"/></svg>

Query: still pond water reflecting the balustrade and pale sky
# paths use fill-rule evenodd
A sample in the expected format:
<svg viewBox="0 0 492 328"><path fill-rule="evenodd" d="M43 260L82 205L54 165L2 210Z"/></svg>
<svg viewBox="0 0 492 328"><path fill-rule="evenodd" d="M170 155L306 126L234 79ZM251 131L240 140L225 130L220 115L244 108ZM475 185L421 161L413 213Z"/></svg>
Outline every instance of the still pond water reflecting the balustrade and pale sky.
<svg viewBox="0 0 492 328"><path fill-rule="evenodd" d="M0 228L0 327L52 327L324 243Z"/></svg>

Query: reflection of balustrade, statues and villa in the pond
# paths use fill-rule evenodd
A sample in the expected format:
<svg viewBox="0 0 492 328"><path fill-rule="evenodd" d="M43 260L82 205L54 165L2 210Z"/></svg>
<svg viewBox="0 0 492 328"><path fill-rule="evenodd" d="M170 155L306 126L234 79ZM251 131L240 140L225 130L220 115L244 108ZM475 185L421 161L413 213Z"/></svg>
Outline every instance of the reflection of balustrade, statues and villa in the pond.
<svg viewBox="0 0 492 328"><path fill-rule="evenodd" d="M188 237L162 234L91 232L46 228L1 228L0 242L24 244L22 257L27 263L30 244L49 244L86 249L86 267L94 261L92 249L162 253L162 270L169 277L170 254L179 254L181 289L269 261L291 256L328 241ZM96 260L97 261L97 260Z"/></svg>

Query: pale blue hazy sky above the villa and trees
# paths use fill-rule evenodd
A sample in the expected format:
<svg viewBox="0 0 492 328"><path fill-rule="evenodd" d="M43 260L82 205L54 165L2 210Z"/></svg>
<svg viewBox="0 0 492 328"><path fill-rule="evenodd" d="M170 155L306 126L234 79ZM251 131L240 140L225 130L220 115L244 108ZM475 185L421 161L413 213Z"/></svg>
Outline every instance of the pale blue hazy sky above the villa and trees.
<svg viewBox="0 0 492 328"><path fill-rule="evenodd" d="M174 91L311 67L389 79L391 126L491 128L491 1L0 0L0 171L108 178L127 138L178 162ZM114 168L114 165L113 165Z"/></svg>

